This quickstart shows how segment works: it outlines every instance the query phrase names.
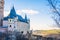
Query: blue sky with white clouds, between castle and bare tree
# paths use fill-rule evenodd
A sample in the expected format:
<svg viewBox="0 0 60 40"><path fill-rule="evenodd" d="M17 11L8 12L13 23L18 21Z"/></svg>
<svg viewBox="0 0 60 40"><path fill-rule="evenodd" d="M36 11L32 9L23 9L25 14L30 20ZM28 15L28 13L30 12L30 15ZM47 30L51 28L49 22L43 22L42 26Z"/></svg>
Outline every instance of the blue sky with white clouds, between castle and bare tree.
<svg viewBox="0 0 60 40"><path fill-rule="evenodd" d="M4 17L9 14L13 6L16 13L23 18L27 14L31 30L59 29L51 18L50 7L46 0L5 0Z"/></svg>

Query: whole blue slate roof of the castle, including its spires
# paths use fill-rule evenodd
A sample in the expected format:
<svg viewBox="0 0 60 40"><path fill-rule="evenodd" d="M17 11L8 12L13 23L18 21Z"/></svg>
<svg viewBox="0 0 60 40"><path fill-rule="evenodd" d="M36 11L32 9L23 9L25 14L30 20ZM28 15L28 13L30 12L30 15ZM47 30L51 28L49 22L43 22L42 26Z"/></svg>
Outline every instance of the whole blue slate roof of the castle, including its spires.
<svg viewBox="0 0 60 40"><path fill-rule="evenodd" d="M27 16L25 16L25 19L23 19L22 16L17 15L14 7L11 9L10 14L7 17L4 17L3 20L8 20L9 18L13 19L15 17L18 17L18 20L21 21L21 22L28 23L27 22L27 20L28 20Z"/></svg>

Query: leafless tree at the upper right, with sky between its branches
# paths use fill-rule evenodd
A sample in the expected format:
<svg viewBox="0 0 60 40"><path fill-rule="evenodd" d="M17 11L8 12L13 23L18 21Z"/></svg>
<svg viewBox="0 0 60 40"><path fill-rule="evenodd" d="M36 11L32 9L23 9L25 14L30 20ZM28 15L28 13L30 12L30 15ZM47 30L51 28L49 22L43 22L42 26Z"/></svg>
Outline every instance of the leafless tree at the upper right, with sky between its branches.
<svg viewBox="0 0 60 40"><path fill-rule="evenodd" d="M51 7L50 9L52 10L53 14L52 18L56 22L57 26L60 27L60 0L47 0L47 1Z"/></svg>

